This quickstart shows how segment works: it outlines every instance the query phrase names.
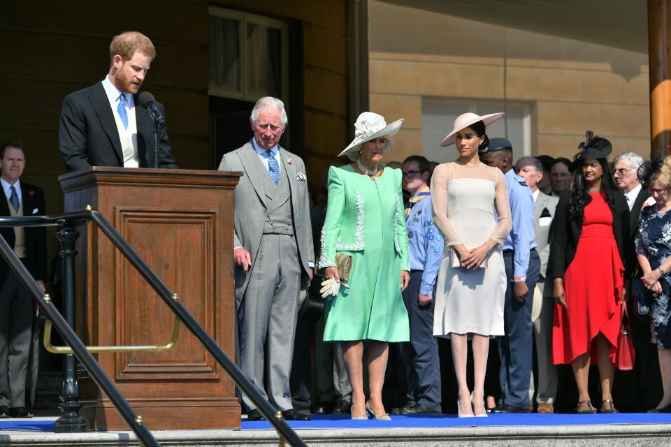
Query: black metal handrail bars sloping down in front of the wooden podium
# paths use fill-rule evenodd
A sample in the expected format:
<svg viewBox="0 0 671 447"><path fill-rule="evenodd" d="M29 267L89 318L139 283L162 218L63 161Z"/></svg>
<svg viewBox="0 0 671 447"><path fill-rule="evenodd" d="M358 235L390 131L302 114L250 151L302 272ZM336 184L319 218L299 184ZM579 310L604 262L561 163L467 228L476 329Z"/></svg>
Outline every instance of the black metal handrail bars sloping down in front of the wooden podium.
<svg viewBox="0 0 671 447"><path fill-rule="evenodd" d="M120 233L114 228L114 226L104 217L102 214L95 210L82 210L75 212L66 212L63 214L57 214L53 216L26 216L26 217L0 217L0 227L2 226L62 226L63 223L81 223L85 221L94 221L96 226L100 228L103 233L110 239L110 241L117 247L117 249L124 255L125 258L138 270L140 275L147 280L147 282L152 286L154 291L164 300L166 305L170 307L173 312L180 318L182 323L184 323L187 328L192 332L192 334L200 340L200 342L205 346L212 357L219 362L219 365L222 365L224 371L226 371L233 382L236 383L238 388L243 391L254 404L257 405L257 409L263 414L268 422L270 422L277 432L280 433L280 437L286 439L289 444L294 447L303 447L305 443L303 440L298 437L298 434L289 427L286 421L282 418L278 418L276 415L276 410L273 409L273 406L265 400L257 387L252 383L245 374L240 371L235 362L233 362L229 356L226 356L224 350L215 342L215 339L212 339L208 332L206 332L200 323L196 321L196 318L187 310L184 305L178 300L173 300L173 292L164 284L163 281L157 276L154 271L149 268L149 266L142 260L140 255L131 247L127 240L120 235ZM94 358L90 353L86 351L86 347L80 339L78 339L75 332L67 325L63 316L59 314L57 309L53 307L50 300L44 300L43 293L38 287L37 283L29 274L28 270L21 263L19 258L14 254L14 251L9 247L7 242L0 237L0 251L1 255L7 263L10 265L12 270L17 273L21 281L27 286L28 290L34 295L36 301L45 309L45 314L52 320L53 325L56 330L63 336L64 341L71 346L75 356L79 358L82 364L88 369L89 373L93 376L94 380L98 385L103 389L103 391L110 397L110 401L117 406L122 416L131 426L131 428L136 432L138 438L145 442L144 437L148 436L151 441L145 442L147 446L157 446L158 444L154 441L150 432L140 423L136 423L136 416L124 400L122 395L115 388L114 384L107 378L102 369L96 363ZM45 306L45 303L49 304L49 307ZM114 397L113 397L114 395ZM124 411L122 411L122 409ZM137 430L136 430L137 428ZM141 433L141 434L140 434Z"/></svg>

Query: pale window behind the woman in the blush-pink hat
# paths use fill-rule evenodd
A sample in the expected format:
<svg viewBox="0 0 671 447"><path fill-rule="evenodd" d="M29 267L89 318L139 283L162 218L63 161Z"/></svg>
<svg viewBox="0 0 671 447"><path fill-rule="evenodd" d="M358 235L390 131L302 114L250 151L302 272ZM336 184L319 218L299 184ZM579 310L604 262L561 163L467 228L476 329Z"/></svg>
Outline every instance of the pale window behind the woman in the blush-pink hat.
<svg viewBox="0 0 671 447"><path fill-rule="evenodd" d="M513 101L459 100L448 98L422 98L421 145L422 152L432 161L454 161L459 154L454 145L440 147L445 135L452 131L454 119L462 113L477 115L505 112L505 117L487 126L489 138L503 137L510 140L514 160L531 155L531 104Z"/></svg>

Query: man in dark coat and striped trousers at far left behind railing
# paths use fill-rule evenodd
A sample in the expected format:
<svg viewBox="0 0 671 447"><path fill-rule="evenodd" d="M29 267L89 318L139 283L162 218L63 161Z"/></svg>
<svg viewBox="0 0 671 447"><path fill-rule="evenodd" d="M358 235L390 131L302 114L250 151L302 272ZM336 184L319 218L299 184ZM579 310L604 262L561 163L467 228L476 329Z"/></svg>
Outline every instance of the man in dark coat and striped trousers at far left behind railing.
<svg viewBox="0 0 671 447"><path fill-rule="evenodd" d="M41 188L20 181L26 166L21 142L0 146L1 216L45 214ZM41 227L0 228L0 235L12 247L44 291L47 277L46 235ZM0 260L0 418L25 418L26 372L34 314L33 298L18 277Z"/></svg>

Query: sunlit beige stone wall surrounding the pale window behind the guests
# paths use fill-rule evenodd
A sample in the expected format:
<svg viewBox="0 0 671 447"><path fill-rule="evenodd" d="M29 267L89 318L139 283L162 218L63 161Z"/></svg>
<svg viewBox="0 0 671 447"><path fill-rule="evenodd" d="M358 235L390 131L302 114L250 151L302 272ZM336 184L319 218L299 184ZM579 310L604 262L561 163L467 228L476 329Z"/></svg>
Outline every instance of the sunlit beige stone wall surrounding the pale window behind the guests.
<svg viewBox="0 0 671 447"><path fill-rule="evenodd" d="M534 155L570 157L592 129L614 154L648 156L646 63L647 54L370 2L370 109L405 117L398 160L421 152L423 98L529 103Z"/></svg>

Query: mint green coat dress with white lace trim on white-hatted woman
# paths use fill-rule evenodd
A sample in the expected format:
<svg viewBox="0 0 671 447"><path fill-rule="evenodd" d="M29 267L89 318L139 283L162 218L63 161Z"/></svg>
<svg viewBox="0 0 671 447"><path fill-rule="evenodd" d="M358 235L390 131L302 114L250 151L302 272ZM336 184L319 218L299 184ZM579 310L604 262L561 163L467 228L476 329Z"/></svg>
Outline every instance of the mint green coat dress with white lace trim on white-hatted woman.
<svg viewBox="0 0 671 447"><path fill-rule="evenodd" d="M326 300L324 342L410 340L401 296L401 270L409 270L402 175L384 168L371 180L349 165L329 170L319 267L335 265L335 253L345 253L352 255L352 272L349 288Z"/></svg>

